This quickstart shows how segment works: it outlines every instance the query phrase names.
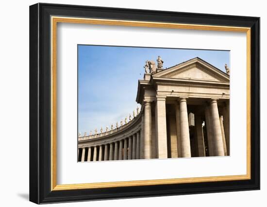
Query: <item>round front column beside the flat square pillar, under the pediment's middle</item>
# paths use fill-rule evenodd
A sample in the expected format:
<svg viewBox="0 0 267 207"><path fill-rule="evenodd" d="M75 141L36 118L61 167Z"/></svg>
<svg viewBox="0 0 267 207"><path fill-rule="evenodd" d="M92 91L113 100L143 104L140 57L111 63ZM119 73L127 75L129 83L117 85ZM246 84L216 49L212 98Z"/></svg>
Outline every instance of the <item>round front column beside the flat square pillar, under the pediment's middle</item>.
<svg viewBox="0 0 267 207"><path fill-rule="evenodd" d="M181 120L182 156L191 157L188 114L187 114L187 105L185 98L181 98L180 100L180 120Z"/></svg>

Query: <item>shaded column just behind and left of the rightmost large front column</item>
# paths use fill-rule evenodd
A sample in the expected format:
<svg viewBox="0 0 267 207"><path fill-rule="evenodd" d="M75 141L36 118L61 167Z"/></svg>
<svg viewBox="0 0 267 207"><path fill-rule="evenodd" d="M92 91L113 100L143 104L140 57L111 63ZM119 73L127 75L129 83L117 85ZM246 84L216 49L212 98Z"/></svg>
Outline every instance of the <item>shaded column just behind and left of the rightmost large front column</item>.
<svg viewBox="0 0 267 207"><path fill-rule="evenodd" d="M209 105L205 108L205 125L208 136L209 156L214 156L213 129Z"/></svg>

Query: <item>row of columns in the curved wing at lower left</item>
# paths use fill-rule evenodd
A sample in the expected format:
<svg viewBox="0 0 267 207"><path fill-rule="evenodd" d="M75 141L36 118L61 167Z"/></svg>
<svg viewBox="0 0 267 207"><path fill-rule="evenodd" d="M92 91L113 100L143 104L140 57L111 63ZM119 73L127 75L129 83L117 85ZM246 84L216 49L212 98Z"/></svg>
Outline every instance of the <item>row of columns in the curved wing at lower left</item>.
<svg viewBox="0 0 267 207"><path fill-rule="evenodd" d="M140 152L141 131L124 139L96 145L94 147L79 148L79 161L107 161L107 160L135 160L141 159Z"/></svg>

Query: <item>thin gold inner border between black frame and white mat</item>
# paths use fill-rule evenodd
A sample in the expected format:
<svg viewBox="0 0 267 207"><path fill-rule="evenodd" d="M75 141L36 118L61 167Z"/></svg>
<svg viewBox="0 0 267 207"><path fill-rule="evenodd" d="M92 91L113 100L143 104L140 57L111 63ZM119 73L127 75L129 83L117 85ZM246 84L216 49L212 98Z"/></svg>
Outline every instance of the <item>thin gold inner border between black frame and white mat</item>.
<svg viewBox="0 0 267 207"><path fill-rule="evenodd" d="M51 16L51 31L50 31L50 46L51 46L51 181L50 187L52 190L74 190L74 189L89 189L89 188L117 188L117 187L133 187L133 186L152 186L166 184L184 184L184 183L200 183L200 182L218 182L218 181L234 181L234 180L249 180L251 178L250 171L250 28L249 27L232 27L232 26L217 26L217 25L200 25L200 24L180 24L166 22L150 22L150 21L134 21L134 20L114 20L114 19L87 19L73 17L57 17ZM135 26L135 27L158 27L172 29L193 29L193 30L210 30L210 31L227 31L227 32L245 32L247 35L247 174L246 175L227 175L227 176L212 176L212 177L193 177L193 178L175 178L175 179L157 179L157 180L138 180L138 181L119 181L119 182L103 182L103 183L84 183L84 184L67 184L57 185L57 158L56 158L56 48L57 48L57 23L82 23L82 24L100 24L100 25L116 25L116 26Z"/></svg>

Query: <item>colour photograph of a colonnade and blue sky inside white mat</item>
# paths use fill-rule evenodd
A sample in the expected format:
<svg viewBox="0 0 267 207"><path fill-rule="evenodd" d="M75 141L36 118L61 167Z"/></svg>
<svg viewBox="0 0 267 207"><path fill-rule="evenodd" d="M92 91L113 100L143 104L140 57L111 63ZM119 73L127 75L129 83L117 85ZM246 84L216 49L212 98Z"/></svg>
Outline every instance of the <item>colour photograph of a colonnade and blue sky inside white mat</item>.
<svg viewBox="0 0 267 207"><path fill-rule="evenodd" d="M77 51L78 162L230 156L231 51Z"/></svg>

